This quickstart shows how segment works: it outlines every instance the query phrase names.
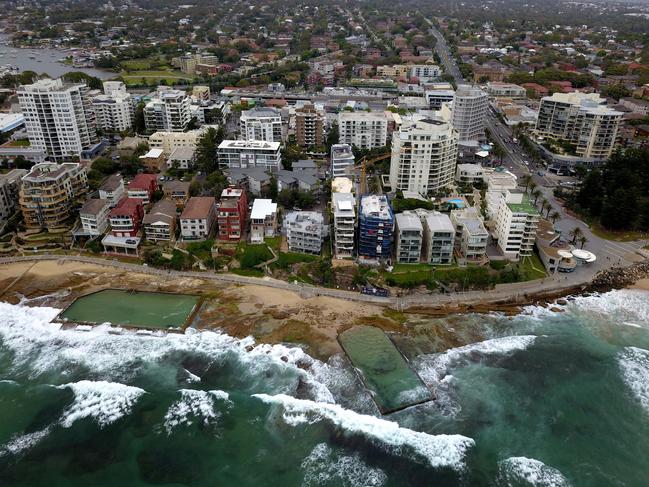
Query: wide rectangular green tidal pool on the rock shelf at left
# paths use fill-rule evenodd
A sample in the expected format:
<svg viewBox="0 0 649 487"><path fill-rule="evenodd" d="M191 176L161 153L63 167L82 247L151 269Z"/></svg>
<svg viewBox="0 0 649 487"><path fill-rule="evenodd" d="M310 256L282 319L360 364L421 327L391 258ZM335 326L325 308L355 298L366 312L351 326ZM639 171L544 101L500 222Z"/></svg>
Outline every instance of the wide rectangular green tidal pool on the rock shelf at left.
<svg viewBox="0 0 649 487"><path fill-rule="evenodd" d="M148 328L185 324L198 296L104 289L77 298L60 318L80 323L112 323Z"/></svg>

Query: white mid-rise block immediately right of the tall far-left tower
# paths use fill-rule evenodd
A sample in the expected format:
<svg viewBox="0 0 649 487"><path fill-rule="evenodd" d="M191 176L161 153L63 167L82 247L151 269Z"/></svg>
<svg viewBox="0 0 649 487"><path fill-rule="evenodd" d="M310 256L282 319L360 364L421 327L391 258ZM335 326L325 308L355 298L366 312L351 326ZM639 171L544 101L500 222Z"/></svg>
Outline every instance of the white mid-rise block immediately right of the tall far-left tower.
<svg viewBox="0 0 649 487"><path fill-rule="evenodd" d="M92 99L97 128L123 132L133 127L135 102L121 81L104 81L104 94Z"/></svg>

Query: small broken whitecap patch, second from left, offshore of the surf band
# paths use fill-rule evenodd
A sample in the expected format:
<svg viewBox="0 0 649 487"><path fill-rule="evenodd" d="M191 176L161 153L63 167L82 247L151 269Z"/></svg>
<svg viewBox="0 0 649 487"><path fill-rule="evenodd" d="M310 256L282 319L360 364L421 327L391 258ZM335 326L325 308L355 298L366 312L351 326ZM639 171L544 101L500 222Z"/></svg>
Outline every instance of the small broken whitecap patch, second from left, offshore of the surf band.
<svg viewBox="0 0 649 487"><path fill-rule="evenodd" d="M193 424L194 420L200 420L205 426L214 424L221 415L215 409L216 400L229 403L229 394L224 391L181 389L180 399L165 414L164 427L167 434L171 434L179 425Z"/></svg>

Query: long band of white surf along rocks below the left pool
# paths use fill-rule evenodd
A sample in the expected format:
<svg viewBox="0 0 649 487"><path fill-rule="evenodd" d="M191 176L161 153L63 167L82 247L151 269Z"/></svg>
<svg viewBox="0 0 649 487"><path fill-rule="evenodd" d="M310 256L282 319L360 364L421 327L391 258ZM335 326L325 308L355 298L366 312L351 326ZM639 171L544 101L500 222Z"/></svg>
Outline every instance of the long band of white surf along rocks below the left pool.
<svg viewBox="0 0 649 487"><path fill-rule="evenodd" d="M204 355L213 361L231 357L266 390L293 393L301 380L313 399L335 402L323 380L333 384L336 374L299 347L256 345L252 337L237 339L218 331L191 329L164 337L111 334L108 326L79 333L50 324L57 314L54 308L0 303L0 341L13 352L15 371L36 378L82 367L106 380L126 383L143 363L155 363L170 355ZM271 368L281 376L276 382L268 380Z"/></svg>

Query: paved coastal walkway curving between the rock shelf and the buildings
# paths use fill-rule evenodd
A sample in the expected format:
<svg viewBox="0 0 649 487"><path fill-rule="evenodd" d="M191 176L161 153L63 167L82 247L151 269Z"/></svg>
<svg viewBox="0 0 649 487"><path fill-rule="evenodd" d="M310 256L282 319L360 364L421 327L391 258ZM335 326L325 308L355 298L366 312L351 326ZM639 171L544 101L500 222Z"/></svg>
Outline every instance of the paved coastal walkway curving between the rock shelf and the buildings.
<svg viewBox="0 0 649 487"><path fill-rule="evenodd" d="M203 279L211 281L219 281L224 283L239 284L239 285L252 285L252 286L265 286L275 289L283 289L292 291L299 294L303 298L310 298L315 296L328 296L338 299L346 299L349 301L364 302L369 304L376 304L380 306L387 306L400 311L405 311L410 307L438 307L438 306L454 306L461 304L473 303L518 303L518 302L531 302L535 295L561 293L563 291L570 291L579 286L587 285L593 275L591 273L584 273L577 276L551 276L543 279L536 279L527 282L518 282L510 284L499 284L490 290L480 291L466 291L454 293L415 293L406 296L393 296L389 298L381 298L377 296L368 296L358 292L343 291L340 289L331 289L313 286L304 283L291 283L272 279L269 277L247 277L239 276L236 274L214 273L210 271L174 271L167 269L156 269L138 264L129 264L117 260L102 259L99 257L77 256L77 255L52 255L40 254L29 256L14 256L0 258L0 265L11 264L16 262L38 262L38 261L56 261L64 262L79 262L84 264L92 264L97 266L108 266L116 269L121 269L128 272L138 274L148 274L158 277L167 278L192 278Z"/></svg>

